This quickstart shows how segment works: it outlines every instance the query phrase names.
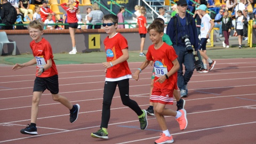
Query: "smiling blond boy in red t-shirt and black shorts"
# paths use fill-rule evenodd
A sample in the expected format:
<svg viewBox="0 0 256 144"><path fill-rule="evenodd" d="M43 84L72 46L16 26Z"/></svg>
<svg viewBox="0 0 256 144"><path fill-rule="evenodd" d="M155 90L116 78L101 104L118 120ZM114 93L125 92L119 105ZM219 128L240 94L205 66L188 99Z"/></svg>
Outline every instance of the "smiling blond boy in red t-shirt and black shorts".
<svg viewBox="0 0 256 144"><path fill-rule="evenodd" d="M80 106L72 105L66 97L59 94L58 71L53 60L52 47L46 39L42 38L44 23L34 20L29 23L29 35L33 39L30 47L33 51L34 59L23 64L16 63L13 70L23 67L37 65L36 79L33 89L33 99L31 107L31 124L20 130L22 134L37 134L36 119L38 115L38 105L42 93L47 89L52 93L52 99L60 102L70 110L70 123L74 123L78 118Z"/></svg>

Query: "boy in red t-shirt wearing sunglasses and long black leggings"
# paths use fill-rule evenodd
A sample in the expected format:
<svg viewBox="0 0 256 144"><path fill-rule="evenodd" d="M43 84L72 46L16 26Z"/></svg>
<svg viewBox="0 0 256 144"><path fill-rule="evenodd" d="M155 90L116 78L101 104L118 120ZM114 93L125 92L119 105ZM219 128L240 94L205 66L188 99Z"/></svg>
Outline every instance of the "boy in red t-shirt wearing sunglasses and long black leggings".
<svg viewBox="0 0 256 144"><path fill-rule="evenodd" d="M129 59L127 40L120 33L116 33L118 17L114 14L107 14L103 17L103 28L108 34L104 40L107 62L103 62L106 68L105 86L103 91L103 106L101 113L100 130L91 133L93 138L108 139L108 122L110 119L110 106L118 85L123 105L131 108L139 117L140 129L147 128L147 112L141 110L138 103L129 97L129 78L132 73L128 66Z"/></svg>

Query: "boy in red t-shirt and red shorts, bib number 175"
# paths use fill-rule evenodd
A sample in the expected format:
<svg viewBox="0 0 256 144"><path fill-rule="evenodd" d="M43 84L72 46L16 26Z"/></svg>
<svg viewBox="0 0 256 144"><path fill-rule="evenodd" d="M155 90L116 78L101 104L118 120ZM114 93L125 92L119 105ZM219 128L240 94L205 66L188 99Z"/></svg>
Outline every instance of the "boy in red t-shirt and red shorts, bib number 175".
<svg viewBox="0 0 256 144"><path fill-rule="evenodd" d="M161 22L155 21L151 23L148 27L148 33L153 45L148 47L147 59L135 71L133 78L138 81L141 71L149 65L150 61L154 61L155 83L150 102L153 102L157 122L163 131L161 138L156 140L155 143L172 143L173 138L167 129L164 115L175 116L179 122L180 130L185 130L188 124L185 109L174 111L165 108L165 105L173 105L173 91L178 89L177 71L180 68L177 60L178 55L172 46L163 42L164 25Z"/></svg>

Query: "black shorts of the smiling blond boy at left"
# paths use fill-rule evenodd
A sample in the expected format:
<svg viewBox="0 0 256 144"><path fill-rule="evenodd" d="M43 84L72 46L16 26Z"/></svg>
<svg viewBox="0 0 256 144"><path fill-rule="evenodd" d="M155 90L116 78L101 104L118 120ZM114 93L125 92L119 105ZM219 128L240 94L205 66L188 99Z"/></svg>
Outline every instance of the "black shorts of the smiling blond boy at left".
<svg viewBox="0 0 256 144"><path fill-rule="evenodd" d="M44 92L46 89L52 94L59 93L58 75L51 77L36 77L33 92Z"/></svg>

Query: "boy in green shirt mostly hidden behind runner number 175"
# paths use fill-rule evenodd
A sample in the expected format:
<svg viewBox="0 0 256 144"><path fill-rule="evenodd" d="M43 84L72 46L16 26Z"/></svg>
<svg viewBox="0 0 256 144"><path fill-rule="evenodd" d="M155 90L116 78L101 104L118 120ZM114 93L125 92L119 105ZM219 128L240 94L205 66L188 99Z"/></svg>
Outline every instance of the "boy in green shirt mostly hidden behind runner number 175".
<svg viewBox="0 0 256 144"><path fill-rule="evenodd" d="M161 22L162 25L164 25L164 20L162 18L156 18L153 22L156 22L156 21ZM170 37L168 35L166 35L165 33L162 37L162 41L168 45L172 45L172 41L171 41ZM152 66L152 64L153 64L153 61L150 61L149 65ZM150 92L149 92L150 96L152 94L152 90L154 87L154 79L155 79L155 69L153 68L152 76L151 76L151 83L150 83ZM185 102L185 100L181 99L177 89L174 89L173 95L177 101L177 105L176 105L177 111L184 108L186 102ZM149 102L149 107L146 111L147 111L148 116L155 116L153 102Z"/></svg>

